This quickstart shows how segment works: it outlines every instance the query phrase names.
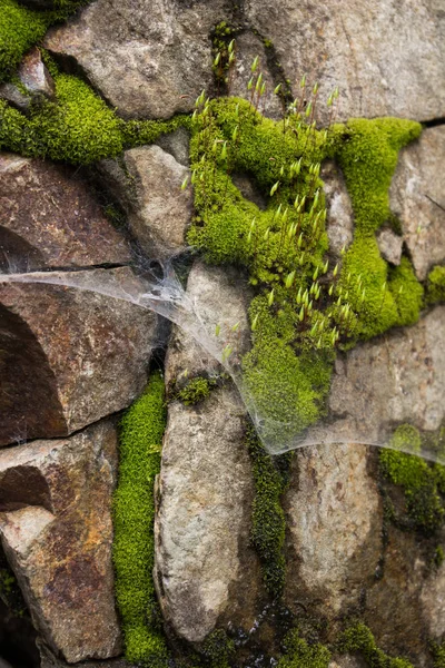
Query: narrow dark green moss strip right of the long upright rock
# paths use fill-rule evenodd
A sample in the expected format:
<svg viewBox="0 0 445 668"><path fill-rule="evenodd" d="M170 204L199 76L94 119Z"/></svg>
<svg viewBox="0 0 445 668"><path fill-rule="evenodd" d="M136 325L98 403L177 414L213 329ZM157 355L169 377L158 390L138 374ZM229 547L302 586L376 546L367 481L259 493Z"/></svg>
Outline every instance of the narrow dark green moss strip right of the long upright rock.
<svg viewBox="0 0 445 668"><path fill-rule="evenodd" d="M246 441L253 461L255 500L253 508L251 542L261 561L266 590L279 598L285 583L284 542L286 519L280 498L288 484L290 454L273 459L251 426Z"/></svg>

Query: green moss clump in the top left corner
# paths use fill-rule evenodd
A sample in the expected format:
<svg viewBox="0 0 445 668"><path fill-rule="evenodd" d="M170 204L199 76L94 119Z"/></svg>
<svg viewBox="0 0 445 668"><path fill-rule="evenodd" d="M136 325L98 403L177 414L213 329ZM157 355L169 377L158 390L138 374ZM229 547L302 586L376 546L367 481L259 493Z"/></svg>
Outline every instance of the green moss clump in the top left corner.
<svg viewBox="0 0 445 668"><path fill-rule="evenodd" d="M65 21L88 0L56 0L50 11L31 10L16 0L0 0L0 81L9 79L48 28Z"/></svg>

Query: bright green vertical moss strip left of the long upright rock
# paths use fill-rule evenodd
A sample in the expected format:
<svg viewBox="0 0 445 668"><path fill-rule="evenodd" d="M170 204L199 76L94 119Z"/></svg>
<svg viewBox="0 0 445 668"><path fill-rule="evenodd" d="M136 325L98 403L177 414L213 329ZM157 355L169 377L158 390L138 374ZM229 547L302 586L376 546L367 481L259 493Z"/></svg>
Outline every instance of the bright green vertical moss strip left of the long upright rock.
<svg viewBox="0 0 445 668"><path fill-rule="evenodd" d="M164 380L154 373L120 424L119 482L113 498L116 596L130 662L167 665L154 568L154 483L166 424Z"/></svg>

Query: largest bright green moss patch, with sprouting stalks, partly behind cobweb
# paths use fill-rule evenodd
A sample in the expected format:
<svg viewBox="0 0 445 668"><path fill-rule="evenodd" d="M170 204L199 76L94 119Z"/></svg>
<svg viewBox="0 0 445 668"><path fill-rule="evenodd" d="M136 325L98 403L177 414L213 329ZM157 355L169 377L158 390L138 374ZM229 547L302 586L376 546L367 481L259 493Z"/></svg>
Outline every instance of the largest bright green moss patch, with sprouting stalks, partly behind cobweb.
<svg viewBox="0 0 445 668"><path fill-rule="evenodd" d="M389 217L398 149L421 126L357 119L318 131L301 114L274 122L258 112L260 77L254 63L250 101L197 100L190 145L197 216L188 240L209 263L246 267L258 288L245 390L266 418L263 435L283 445L323 415L336 347L418 318L423 287L409 261L389 268L374 233ZM327 258L319 178L329 156L345 169L357 220L339 274ZM241 196L231 173L255 179L268 196L266 210Z"/></svg>

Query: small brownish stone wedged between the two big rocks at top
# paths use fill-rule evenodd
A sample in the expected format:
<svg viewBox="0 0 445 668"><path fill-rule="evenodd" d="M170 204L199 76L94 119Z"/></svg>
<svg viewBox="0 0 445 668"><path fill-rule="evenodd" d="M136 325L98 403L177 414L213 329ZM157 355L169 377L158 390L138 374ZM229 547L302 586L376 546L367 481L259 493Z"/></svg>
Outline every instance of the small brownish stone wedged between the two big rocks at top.
<svg viewBox="0 0 445 668"><path fill-rule="evenodd" d="M266 81L266 94L258 106L259 111L274 120L283 120L283 105L274 95L275 84L267 67L267 57L263 41L253 32L246 31L236 38L236 63L231 77L229 94L250 100L247 84L251 77L250 67L256 57L259 57L258 72L261 71Z"/></svg>

